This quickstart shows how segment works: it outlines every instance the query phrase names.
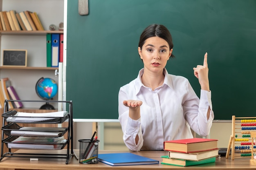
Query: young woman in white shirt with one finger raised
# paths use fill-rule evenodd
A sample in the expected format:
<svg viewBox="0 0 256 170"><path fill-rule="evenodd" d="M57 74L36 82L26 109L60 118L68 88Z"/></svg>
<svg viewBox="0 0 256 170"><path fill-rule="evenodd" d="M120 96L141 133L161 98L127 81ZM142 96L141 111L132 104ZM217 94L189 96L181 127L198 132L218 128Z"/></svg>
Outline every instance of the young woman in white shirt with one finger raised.
<svg viewBox="0 0 256 170"><path fill-rule="evenodd" d="M138 52L144 63L139 75L119 90L119 121L124 143L132 151L163 150L164 141L209 134L214 118L209 88L207 53L203 65L193 68L200 99L188 79L168 74L173 55L168 29L148 26L140 36Z"/></svg>

